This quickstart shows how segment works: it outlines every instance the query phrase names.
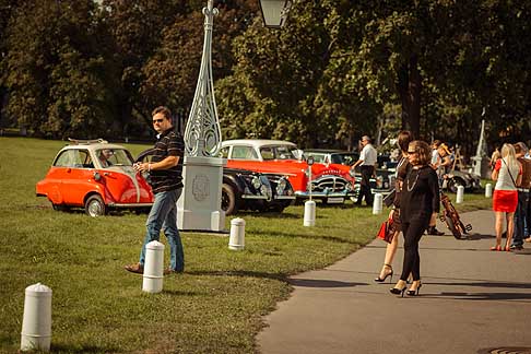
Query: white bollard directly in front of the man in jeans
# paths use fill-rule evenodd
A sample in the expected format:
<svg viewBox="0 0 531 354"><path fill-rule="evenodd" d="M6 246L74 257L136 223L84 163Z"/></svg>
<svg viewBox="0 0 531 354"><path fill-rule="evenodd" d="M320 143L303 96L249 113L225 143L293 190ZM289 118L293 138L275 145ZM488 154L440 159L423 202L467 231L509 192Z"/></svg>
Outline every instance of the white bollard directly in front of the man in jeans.
<svg viewBox="0 0 531 354"><path fill-rule="evenodd" d="M146 293L160 293L164 280L164 245L152 240L145 245L145 263L142 282L142 291Z"/></svg>

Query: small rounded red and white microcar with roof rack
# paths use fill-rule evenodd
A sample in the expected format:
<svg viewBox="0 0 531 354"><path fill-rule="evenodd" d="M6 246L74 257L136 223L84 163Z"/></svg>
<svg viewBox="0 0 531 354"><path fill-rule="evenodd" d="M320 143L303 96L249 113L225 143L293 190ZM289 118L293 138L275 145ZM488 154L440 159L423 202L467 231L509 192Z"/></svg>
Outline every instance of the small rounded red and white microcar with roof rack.
<svg viewBox="0 0 531 354"><path fill-rule="evenodd" d="M101 139L71 140L37 182L36 194L48 198L55 210L84 208L91 216L110 209L146 209L153 203L153 192L132 164L131 154L121 145Z"/></svg>

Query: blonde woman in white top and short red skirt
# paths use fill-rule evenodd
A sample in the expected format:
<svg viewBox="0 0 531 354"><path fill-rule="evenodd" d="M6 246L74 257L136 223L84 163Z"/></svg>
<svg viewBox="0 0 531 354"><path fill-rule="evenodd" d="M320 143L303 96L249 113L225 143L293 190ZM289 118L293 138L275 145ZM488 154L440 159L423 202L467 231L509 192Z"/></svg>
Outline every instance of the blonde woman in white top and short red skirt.
<svg viewBox="0 0 531 354"><path fill-rule="evenodd" d="M522 178L522 166L515 155L515 148L511 144L502 146L502 158L498 158L492 174L496 181L494 187L493 210L496 214L496 246L491 250L510 251L510 241L515 232L515 211L518 205L518 189ZM507 220L507 243L502 248L502 232L504 216Z"/></svg>

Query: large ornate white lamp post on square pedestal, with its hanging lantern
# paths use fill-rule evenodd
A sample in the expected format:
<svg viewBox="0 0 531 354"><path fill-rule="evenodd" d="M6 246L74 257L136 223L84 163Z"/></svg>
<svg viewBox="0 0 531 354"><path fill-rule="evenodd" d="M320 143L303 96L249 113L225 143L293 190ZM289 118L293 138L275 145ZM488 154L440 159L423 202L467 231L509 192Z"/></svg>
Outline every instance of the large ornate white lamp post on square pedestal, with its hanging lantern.
<svg viewBox="0 0 531 354"><path fill-rule="evenodd" d="M290 9L290 0L260 0L264 25L281 27ZM212 27L217 14L214 1L208 0L204 14L204 43L198 85L185 130L185 190L177 202L177 226L189 231L221 232L225 212L221 210L223 166L217 157L221 129L212 80Z"/></svg>

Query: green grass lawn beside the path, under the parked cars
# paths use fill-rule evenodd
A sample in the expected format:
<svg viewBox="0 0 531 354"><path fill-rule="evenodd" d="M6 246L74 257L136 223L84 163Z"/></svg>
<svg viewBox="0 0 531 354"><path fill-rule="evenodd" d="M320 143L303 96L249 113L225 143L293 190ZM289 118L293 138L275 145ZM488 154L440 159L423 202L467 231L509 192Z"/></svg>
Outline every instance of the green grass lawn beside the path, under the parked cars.
<svg viewBox="0 0 531 354"><path fill-rule="evenodd" d="M138 260L146 215L91 219L35 197L63 144L0 138L0 353L19 350L24 290L37 282L54 292L54 353L253 353L261 316L291 292L286 276L363 247L386 217L351 203L318 206L316 227L302 226L303 206L239 214L243 251L228 250L227 235L182 233L186 273L166 276L164 291L150 295L142 276L123 270ZM125 145L133 155L148 148ZM458 209L489 204L465 194Z"/></svg>

